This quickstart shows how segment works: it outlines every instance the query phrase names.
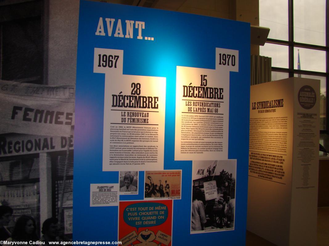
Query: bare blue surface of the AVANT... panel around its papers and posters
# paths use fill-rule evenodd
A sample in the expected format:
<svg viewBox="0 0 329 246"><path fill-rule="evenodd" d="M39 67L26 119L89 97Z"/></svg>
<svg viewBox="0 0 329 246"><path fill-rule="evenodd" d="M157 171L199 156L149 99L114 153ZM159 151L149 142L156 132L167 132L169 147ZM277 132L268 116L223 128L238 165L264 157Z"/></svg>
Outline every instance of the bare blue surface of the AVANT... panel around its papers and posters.
<svg viewBox="0 0 329 246"><path fill-rule="evenodd" d="M119 27L118 20L121 21ZM133 23L130 26L133 32L126 30L127 22ZM80 2L73 239L117 241L118 206L90 206L90 184L119 182L118 171L103 171L105 74L94 72L95 48L123 51L123 74L165 78L163 169L182 170L181 199L173 200L172 203L173 245L244 245L248 181L250 24L126 5ZM229 72L226 158L237 160L234 230L191 234L192 161L175 161L176 69L182 66L215 70L216 48L237 51L236 59L239 60L238 72ZM116 82L113 77L113 83ZM120 195L120 201L144 199L144 171L139 172L138 195Z"/></svg>

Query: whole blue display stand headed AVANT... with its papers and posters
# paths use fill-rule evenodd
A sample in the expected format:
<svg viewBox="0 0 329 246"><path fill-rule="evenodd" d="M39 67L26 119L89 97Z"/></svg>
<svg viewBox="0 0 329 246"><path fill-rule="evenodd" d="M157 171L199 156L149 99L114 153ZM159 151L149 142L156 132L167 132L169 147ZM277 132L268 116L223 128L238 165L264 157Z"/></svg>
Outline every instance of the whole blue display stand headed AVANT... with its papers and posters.
<svg viewBox="0 0 329 246"><path fill-rule="evenodd" d="M250 24L80 2L73 239L244 245Z"/></svg>

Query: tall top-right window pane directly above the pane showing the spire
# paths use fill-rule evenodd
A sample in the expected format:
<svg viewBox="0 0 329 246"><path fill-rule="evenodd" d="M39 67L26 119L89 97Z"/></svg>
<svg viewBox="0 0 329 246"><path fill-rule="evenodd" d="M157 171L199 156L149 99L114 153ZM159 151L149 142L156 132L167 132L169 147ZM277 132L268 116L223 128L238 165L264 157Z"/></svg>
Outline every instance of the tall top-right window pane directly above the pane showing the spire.
<svg viewBox="0 0 329 246"><path fill-rule="evenodd" d="M325 19L325 0L294 0L294 41L325 46Z"/></svg>

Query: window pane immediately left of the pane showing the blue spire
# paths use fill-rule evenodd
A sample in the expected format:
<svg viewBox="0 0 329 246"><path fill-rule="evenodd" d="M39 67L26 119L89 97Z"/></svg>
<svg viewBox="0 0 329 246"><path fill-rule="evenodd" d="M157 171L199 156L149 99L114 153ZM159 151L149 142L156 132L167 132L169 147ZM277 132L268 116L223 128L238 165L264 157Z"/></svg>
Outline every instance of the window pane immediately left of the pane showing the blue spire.
<svg viewBox="0 0 329 246"><path fill-rule="evenodd" d="M259 54L272 57L272 67L288 68L288 46L266 43L259 47Z"/></svg>

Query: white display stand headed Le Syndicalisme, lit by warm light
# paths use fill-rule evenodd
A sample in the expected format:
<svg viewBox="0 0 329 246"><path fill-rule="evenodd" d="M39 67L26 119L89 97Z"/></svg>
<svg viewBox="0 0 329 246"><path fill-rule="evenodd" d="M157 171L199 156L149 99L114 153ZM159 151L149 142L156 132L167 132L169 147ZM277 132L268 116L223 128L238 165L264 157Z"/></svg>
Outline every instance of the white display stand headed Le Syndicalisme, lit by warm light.
<svg viewBox="0 0 329 246"><path fill-rule="evenodd" d="M276 245L316 245L320 83L251 86L247 230Z"/></svg>

